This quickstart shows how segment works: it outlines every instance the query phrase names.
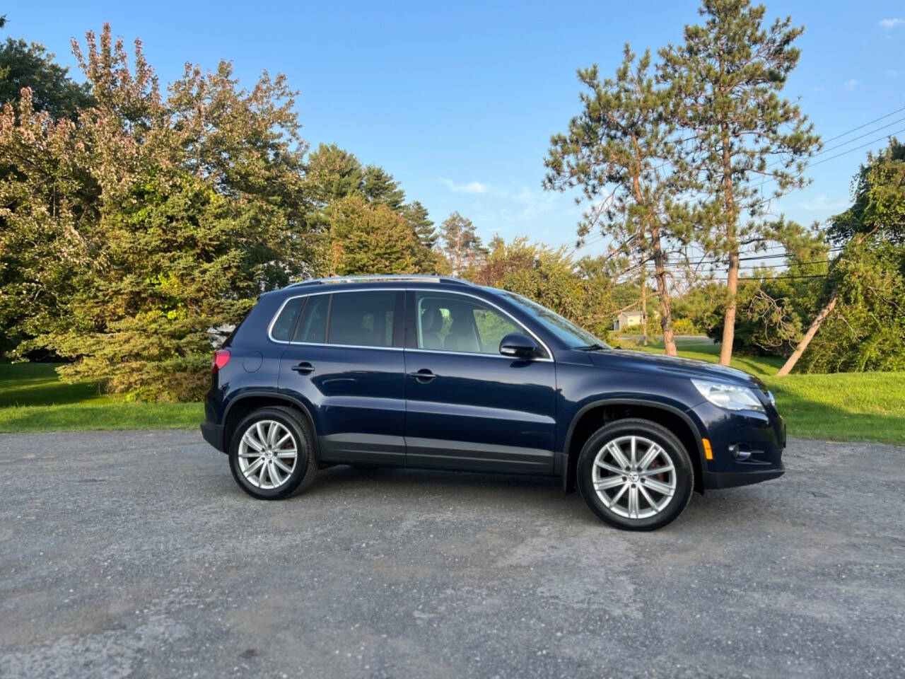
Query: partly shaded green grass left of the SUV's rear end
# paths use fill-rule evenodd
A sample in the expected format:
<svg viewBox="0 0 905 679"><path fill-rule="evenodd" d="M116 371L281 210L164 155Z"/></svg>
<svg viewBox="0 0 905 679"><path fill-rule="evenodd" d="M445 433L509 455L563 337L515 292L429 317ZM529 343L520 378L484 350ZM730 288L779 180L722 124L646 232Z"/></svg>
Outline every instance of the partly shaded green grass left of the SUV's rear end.
<svg viewBox="0 0 905 679"><path fill-rule="evenodd" d="M0 432L198 426L200 403L127 403L97 384L66 384L51 363L0 364Z"/></svg>

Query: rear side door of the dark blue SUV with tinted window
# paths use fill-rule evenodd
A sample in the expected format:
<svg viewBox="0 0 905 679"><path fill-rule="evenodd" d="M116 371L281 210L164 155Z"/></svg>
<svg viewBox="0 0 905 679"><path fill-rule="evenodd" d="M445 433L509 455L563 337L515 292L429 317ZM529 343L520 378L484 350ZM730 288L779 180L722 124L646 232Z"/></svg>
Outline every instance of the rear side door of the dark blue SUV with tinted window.
<svg viewBox="0 0 905 679"><path fill-rule="evenodd" d="M310 404L323 462L405 464L404 293L306 297L280 389Z"/></svg>

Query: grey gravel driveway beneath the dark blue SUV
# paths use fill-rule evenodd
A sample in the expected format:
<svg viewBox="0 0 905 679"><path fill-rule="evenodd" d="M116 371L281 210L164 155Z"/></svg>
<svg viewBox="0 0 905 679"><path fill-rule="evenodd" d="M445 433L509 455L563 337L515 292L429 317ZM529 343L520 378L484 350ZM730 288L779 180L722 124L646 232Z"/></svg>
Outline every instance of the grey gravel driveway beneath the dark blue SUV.
<svg viewBox="0 0 905 679"><path fill-rule="evenodd" d="M0 435L0 676L900 677L903 463L792 440L626 533L552 479L260 502L195 431Z"/></svg>

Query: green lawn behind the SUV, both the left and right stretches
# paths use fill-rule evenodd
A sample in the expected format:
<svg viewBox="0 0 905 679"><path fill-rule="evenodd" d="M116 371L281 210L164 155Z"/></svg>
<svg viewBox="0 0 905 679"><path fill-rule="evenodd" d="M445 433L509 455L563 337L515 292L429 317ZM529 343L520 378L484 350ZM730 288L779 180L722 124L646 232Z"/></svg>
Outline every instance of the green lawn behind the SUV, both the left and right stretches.
<svg viewBox="0 0 905 679"><path fill-rule="evenodd" d="M638 347L662 352L662 346ZM710 362L719 346L683 342L679 354ZM775 357L737 356L735 368L767 382L788 435L905 445L905 373L837 373L776 378ZM48 363L0 364L0 432L195 427L200 403L127 403L96 384L65 384Z"/></svg>

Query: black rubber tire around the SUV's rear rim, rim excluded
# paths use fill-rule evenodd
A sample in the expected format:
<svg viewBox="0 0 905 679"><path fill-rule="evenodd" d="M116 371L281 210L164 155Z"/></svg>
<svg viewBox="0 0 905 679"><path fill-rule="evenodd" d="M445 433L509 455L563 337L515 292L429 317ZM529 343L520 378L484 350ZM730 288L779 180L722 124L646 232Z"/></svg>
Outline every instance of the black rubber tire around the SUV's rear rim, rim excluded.
<svg viewBox="0 0 905 679"><path fill-rule="evenodd" d="M285 426L292 435L297 449L292 473L279 487L259 488L249 482L239 466L239 445L243 434L253 424L262 420L273 420ZM271 406L252 411L235 427L229 445L229 467L235 483L245 493L259 500L282 500L296 491L306 490L318 474L318 462L314 457L313 435L308 422L290 407Z"/></svg>

